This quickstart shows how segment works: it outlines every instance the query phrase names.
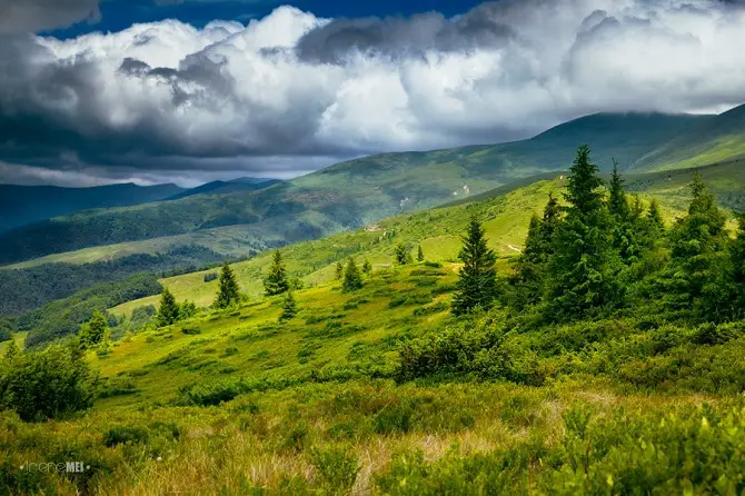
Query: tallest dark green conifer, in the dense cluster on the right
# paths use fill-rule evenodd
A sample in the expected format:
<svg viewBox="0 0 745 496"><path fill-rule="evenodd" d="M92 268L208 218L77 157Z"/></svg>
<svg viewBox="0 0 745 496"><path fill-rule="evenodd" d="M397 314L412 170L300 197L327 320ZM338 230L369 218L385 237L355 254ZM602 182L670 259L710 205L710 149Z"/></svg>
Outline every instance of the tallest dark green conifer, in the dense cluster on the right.
<svg viewBox="0 0 745 496"><path fill-rule="evenodd" d="M612 246L613 218L603 202L603 180L579 147L568 178L566 218L547 267L548 318L570 320L617 304L620 260Z"/></svg>

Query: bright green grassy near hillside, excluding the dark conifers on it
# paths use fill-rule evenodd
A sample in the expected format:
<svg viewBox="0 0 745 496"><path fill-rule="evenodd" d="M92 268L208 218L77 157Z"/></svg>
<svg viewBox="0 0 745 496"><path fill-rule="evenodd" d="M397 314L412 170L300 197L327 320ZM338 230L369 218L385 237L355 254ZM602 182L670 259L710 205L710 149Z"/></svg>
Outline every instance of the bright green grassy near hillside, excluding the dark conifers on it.
<svg viewBox="0 0 745 496"><path fill-rule="evenodd" d="M738 172L717 167L701 171L713 185ZM669 227L685 215L683 199L691 201L678 186L687 173L628 183L645 202L659 199ZM698 306L669 298L677 294L665 285L664 267L685 260L674 261L659 238L673 246L679 232L658 231L640 259L620 269L625 305L566 320L542 307L552 302L514 307L511 291L522 282L509 277L528 218L567 186L563 178L542 180L285 247L290 276L306 284L294 291L297 313L286 320L285 297L260 295L267 254L232 266L249 298L225 310L131 329L123 320L112 329L115 343L82 356L70 341L39 361L34 355L0 361L0 385L39 387L50 398L57 395L44 380L13 381L12 374L23 364L44 373L44 364L69 356L101 375L88 411L46 421L0 411L4 487L11 494L741 494L745 321L701 317L692 313ZM708 222L719 222L709 214ZM505 296L490 310L457 317L450 313L461 267L456 256L471 216L500 255ZM715 235L696 234L707 245ZM717 236L735 254L726 230ZM399 242L413 255L421 245L426 261L394 266ZM349 255L374 268L361 289L345 292L334 265ZM721 260L699 261L711 259ZM733 284L725 270L721 276L723 286ZM198 305L217 292L205 272L163 284L179 301ZM132 317L150 302L112 313ZM28 467L70 458L86 469Z"/></svg>

